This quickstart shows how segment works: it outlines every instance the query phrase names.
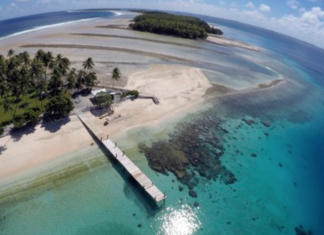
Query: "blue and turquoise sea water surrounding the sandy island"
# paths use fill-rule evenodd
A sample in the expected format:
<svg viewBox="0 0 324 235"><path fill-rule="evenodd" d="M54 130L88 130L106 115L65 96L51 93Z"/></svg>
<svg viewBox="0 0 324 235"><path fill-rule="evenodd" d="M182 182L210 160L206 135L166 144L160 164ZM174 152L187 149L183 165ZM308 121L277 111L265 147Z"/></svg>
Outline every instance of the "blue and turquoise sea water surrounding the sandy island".
<svg viewBox="0 0 324 235"><path fill-rule="evenodd" d="M111 17L116 16L58 12L11 19L0 22L0 37ZM120 148L167 194L165 206L154 206L120 166L91 147L83 157L100 159L100 166L85 162L89 169L75 177L13 194L6 203L0 198L1 235L324 234L324 51L257 27L199 17L226 37L262 48L259 53L201 43L231 55L188 54L200 61L211 83L244 88L279 75L289 82L211 96L199 112L181 120L127 133ZM130 147L134 140L146 147ZM188 167L187 181L148 166L149 153L163 157L175 149L188 158L202 156L200 164ZM189 196L190 187L196 198Z"/></svg>

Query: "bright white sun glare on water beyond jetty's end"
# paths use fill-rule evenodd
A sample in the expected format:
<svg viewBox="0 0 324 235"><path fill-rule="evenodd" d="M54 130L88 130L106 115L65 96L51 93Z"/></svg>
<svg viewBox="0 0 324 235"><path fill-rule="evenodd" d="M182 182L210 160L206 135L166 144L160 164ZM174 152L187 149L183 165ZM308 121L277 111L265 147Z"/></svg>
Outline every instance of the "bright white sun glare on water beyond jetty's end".
<svg viewBox="0 0 324 235"><path fill-rule="evenodd" d="M165 235L191 235L200 227L200 221L194 210L183 205L180 209L167 208L167 214L162 218L159 234Z"/></svg>

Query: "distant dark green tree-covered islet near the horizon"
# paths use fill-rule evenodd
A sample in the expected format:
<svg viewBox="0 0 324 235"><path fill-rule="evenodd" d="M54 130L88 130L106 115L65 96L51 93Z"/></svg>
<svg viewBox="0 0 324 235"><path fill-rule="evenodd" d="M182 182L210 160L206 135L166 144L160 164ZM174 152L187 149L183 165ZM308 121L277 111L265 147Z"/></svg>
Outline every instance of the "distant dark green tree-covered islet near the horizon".
<svg viewBox="0 0 324 235"><path fill-rule="evenodd" d="M136 16L129 25L133 30L181 38L205 39L208 33L222 35L220 29L210 27L206 22L189 16L172 15L162 12L144 12Z"/></svg>

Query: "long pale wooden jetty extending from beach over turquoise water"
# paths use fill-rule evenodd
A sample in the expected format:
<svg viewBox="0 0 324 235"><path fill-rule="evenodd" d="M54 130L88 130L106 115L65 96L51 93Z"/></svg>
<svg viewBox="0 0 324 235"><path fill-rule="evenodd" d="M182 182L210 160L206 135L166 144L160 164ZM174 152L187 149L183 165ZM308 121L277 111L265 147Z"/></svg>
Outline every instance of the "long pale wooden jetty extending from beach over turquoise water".
<svg viewBox="0 0 324 235"><path fill-rule="evenodd" d="M114 156L114 158L124 167L124 169L136 180L136 182L146 191L148 195L155 201L157 205L165 203L166 195L162 193L154 183L113 143L110 139L102 140L102 132L99 131L99 136L96 135L96 128L92 129L93 123L82 116L78 115L81 122L92 132L103 146Z"/></svg>

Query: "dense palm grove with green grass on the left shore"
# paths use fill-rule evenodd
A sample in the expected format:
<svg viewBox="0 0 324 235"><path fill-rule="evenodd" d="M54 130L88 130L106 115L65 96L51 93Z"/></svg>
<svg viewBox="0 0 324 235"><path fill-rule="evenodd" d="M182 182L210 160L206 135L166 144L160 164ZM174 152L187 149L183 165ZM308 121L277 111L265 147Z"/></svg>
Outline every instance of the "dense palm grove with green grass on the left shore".
<svg viewBox="0 0 324 235"><path fill-rule="evenodd" d="M92 87L97 79L91 58L83 67L70 69L68 58L43 50L32 59L28 52L16 55L12 49L7 58L0 55L0 127L35 124L43 112L47 117L68 116L73 110L69 92Z"/></svg>

